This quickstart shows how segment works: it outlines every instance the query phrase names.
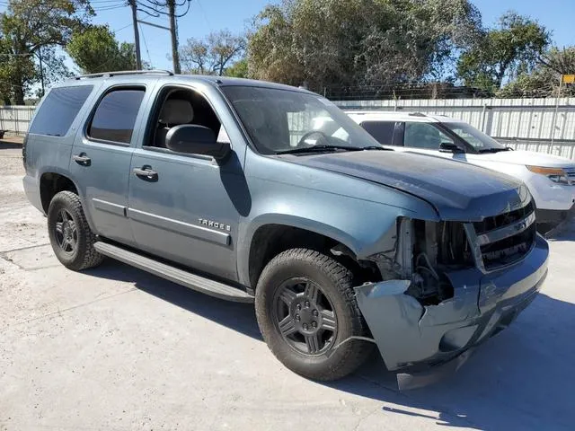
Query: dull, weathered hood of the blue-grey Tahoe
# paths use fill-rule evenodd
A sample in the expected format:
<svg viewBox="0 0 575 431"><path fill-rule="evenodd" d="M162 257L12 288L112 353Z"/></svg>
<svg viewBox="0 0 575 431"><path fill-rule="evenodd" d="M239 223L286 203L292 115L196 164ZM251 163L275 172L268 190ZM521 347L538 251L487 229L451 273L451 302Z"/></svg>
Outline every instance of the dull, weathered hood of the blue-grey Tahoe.
<svg viewBox="0 0 575 431"><path fill-rule="evenodd" d="M520 181L507 175L436 156L358 151L281 157L402 190L429 202L443 220L481 221L523 207L531 198Z"/></svg>

